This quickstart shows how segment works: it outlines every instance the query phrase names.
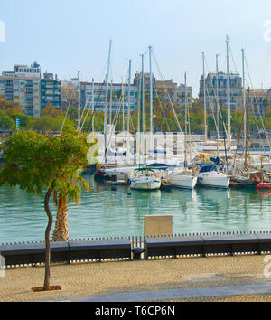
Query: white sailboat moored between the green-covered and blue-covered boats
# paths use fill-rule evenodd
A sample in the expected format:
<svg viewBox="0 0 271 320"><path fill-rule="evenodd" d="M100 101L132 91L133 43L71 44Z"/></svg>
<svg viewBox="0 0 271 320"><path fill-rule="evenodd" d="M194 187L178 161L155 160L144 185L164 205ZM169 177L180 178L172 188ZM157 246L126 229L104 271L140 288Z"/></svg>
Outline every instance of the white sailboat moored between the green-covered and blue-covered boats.
<svg viewBox="0 0 271 320"><path fill-rule="evenodd" d="M175 168L168 175L168 182L175 187L183 188L183 189L194 189L197 184L197 176L194 174L192 170L187 168L187 123L188 123L188 112L187 112L187 86L186 86L186 73L184 75L184 83L185 83L185 136L184 136L184 169ZM191 139L190 139L191 141Z"/></svg>

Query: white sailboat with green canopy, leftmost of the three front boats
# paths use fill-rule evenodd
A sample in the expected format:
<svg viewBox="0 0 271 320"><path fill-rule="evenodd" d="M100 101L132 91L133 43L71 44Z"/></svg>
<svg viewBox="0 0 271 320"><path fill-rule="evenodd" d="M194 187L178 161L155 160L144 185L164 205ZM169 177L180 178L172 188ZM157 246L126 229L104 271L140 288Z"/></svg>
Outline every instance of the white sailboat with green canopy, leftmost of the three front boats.
<svg viewBox="0 0 271 320"><path fill-rule="evenodd" d="M151 48L150 48L151 54ZM139 167L136 168L130 178L130 188L137 190L157 190L161 187L161 178L154 169L141 167L140 164L140 153L142 152L145 157L144 150L144 55L142 54L142 71L141 71L141 110L140 110L140 124L139 124L139 135L140 135L140 147L139 147ZM150 63L151 66L151 63ZM151 119L152 121L152 119ZM142 130L142 131L141 131ZM143 161L144 162L144 161Z"/></svg>

